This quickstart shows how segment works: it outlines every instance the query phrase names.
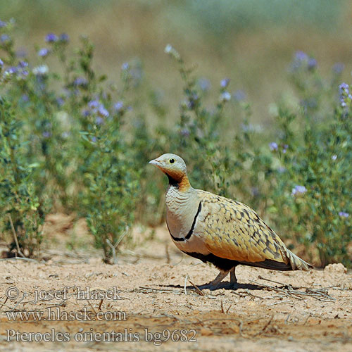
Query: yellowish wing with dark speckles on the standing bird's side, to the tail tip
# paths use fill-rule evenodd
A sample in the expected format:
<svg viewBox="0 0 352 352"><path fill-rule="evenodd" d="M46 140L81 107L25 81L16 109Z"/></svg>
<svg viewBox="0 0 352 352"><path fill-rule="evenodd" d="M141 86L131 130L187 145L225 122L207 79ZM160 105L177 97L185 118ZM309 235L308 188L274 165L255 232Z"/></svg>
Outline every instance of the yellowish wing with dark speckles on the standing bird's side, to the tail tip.
<svg viewBox="0 0 352 352"><path fill-rule="evenodd" d="M263 268L308 270L310 265L289 251L249 206L200 189L197 192L203 209L198 231L203 232L210 253Z"/></svg>

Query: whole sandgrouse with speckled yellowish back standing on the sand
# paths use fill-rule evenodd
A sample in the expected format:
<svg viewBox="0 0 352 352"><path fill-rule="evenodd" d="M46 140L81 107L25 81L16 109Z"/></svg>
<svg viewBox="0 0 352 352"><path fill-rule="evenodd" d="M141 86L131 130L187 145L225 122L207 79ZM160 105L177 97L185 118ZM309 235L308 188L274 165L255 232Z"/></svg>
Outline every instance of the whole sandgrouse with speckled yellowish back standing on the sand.
<svg viewBox="0 0 352 352"><path fill-rule="evenodd" d="M219 274L202 289L216 289L235 268L250 265L270 270L310 270L312 265L292 253L282 239L244 203L191 187L184 160L165 153L149 161L168 177L166 225L180 251L215 265Z"/></svg>

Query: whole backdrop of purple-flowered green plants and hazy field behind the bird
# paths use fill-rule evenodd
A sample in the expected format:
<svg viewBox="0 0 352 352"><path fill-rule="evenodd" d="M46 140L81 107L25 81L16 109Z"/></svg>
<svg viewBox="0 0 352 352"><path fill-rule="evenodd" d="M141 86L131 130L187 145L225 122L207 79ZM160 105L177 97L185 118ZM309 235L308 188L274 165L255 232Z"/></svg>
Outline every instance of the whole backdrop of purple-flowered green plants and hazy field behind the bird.
<svg viewBox="0 0 352 352"><path fill-rule="evenodd" d="M87 246L73 226L84 218L114 262L137 224L165 224L167 180L147 163L174 152L193 187L256 209L298 255L351 266L351 1L0 8L6 255L34 256L51 241L46 215L65 213L66 245Z"/></svg>

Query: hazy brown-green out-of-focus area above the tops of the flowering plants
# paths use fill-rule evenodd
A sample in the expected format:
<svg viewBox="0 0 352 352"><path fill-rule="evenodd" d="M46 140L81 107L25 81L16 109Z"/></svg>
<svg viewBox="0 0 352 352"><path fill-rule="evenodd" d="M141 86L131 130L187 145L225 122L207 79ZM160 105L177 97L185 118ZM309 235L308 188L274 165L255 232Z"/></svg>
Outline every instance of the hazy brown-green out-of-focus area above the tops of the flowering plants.
<svg viewBox="0 0 352 352"><path fill-rule="evenodd" d="M146 80L175 112L172 120L182 82L164 54L168 43L214 90L229 77L230 91L243 91L254 120L262 122L270 118L268 104L289 92L286 73L295 51L315 58L322 75L344 63L348 80L352 68L347 0L1 0L0 6L2 20L15 18L18 44L30 56L47 33L66 32L73 44L80 34L89 36L96 70L109 80L119 77L125 61L140 60Z"/></svg>

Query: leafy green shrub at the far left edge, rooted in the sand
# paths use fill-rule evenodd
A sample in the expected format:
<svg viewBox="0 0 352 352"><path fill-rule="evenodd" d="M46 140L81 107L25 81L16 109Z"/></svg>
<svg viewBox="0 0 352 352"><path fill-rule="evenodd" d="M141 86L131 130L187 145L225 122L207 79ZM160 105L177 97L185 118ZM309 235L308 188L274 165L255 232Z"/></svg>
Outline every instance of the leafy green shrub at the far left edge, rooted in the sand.
<svg viewBox="0 0 352 352"><path fill-rule="evenodd" d="M33 174L39 163L28 163L23 124L11 105L0 99L0 226L8 256L37 254L42 242L44 207L35 192Z"/></svg>

